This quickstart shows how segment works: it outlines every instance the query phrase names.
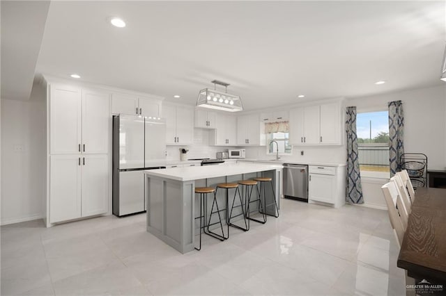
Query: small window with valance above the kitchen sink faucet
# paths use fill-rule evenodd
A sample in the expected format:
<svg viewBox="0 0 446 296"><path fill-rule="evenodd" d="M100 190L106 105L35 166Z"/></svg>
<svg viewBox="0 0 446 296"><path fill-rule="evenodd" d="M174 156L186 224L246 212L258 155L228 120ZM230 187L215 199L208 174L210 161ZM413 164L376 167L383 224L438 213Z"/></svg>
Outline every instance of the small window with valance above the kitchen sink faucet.
<svg viewBox="0 0 446 296"><path fill-rule="evenodd" d="M265 124L268 154L291 154L293 146L289 144L289 122L267 122ZM276 141L277 145L274 142Z"/></svg>

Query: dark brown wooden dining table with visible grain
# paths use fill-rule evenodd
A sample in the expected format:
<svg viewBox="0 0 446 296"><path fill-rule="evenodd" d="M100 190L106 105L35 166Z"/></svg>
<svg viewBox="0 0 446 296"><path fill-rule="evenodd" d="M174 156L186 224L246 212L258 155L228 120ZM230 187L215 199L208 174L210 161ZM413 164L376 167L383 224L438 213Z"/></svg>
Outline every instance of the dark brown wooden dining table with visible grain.
<svg viewBox="0 0 446 296"><path fill-rule="evenodd" d="M397 266L414 279L446 283L446 189L415 192Z"/></svg>

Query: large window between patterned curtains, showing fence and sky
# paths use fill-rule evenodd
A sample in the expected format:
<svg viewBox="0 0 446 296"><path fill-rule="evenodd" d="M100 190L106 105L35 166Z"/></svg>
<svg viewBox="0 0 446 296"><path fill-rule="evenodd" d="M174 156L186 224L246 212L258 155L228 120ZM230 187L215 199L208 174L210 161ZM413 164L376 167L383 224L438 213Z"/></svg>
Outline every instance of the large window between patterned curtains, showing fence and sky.
<svg viewBox="0 0 446 296"><path fill-rule="evenodd" d="M356 131L361 174L388 178L389 112L357 113Z"/></svg>

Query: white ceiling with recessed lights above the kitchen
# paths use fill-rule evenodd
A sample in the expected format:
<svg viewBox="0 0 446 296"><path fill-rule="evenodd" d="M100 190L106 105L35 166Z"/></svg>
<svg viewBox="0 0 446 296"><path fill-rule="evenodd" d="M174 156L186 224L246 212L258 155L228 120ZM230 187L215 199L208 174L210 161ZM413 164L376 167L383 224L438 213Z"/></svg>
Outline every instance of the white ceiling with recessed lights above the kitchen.
<svg viewBox="0 0 446 296"><path fill-rule="evenodd" d="M246 110L442 85L445 5L52 1L35 72L185 104L217 79ZM110 25L111 16L127 26Z"/></svg>

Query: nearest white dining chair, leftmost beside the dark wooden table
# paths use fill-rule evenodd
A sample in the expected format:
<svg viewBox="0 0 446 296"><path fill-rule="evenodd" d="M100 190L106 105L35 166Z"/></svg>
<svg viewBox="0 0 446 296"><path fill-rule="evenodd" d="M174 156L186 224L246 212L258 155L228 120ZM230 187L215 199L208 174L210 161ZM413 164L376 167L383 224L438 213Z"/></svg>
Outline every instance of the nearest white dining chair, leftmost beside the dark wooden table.
<svg viewBox="0 0 446 296"><path fill-rule="evenodd" d="M385 203L387 204L390 223L397 233L397 240L401 246L404 232L407 229L408 214L406 208L401 201L401 197L398 195L398 188L394 182L385 183L383 187L381 187L381 190L383 190Z"/></svg>

